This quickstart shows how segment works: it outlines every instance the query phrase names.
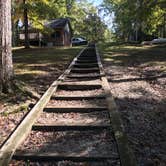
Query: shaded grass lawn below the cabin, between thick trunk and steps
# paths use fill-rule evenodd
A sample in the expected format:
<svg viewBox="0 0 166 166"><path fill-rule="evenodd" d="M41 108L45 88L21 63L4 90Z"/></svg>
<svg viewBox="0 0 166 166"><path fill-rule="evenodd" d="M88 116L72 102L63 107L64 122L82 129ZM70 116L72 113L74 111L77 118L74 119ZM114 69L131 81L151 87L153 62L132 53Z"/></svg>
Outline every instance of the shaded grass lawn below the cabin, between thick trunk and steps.
<svg viewBox="0 0 166 166"><path fill-rule="evenodd" d="M13 50L16 79L29 82L50 72L64 69L80 48L33 48ZM54 77L54 76L52 76Z"/></svg>

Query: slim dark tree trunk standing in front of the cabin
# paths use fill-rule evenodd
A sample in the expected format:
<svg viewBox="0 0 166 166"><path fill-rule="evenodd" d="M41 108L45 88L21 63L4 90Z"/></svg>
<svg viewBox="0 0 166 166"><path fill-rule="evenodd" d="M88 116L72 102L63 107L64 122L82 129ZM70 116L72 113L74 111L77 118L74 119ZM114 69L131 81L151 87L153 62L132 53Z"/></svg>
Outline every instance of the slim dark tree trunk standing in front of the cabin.
<svg viewBox="0 0 166 166"><path fill-rule="evenodd" d="M25 27L25 48L30 48L29 45L29 37L28 37L28 9L27 9L27 5L26 5L26 0L23 1L24 2L24 27Z"/></svg>

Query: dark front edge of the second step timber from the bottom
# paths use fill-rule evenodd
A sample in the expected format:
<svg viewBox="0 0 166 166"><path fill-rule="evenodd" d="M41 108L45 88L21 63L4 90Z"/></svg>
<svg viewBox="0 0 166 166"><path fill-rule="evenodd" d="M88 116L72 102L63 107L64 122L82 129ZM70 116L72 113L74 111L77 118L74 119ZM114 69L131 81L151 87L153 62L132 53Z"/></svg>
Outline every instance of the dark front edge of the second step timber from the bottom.
<svg viewBox="0 0 166 166"><path fill-rule="evenodd" d="M54 124L35 124L32 126L34 131L89 131L110 129L110 125L54 125Z"/></svg>

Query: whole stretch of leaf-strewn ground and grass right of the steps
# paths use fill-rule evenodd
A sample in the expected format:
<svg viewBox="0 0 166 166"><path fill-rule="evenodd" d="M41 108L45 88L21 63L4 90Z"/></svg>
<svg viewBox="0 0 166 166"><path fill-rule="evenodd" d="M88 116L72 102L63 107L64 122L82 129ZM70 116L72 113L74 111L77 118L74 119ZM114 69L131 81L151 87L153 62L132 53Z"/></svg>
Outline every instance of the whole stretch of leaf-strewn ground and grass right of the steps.
<svg viewBox="0 0 166 166"><path fill-rule="evenodd" d="M139 166L165 166L166 45L101 44L100 50Z"/></svg>

